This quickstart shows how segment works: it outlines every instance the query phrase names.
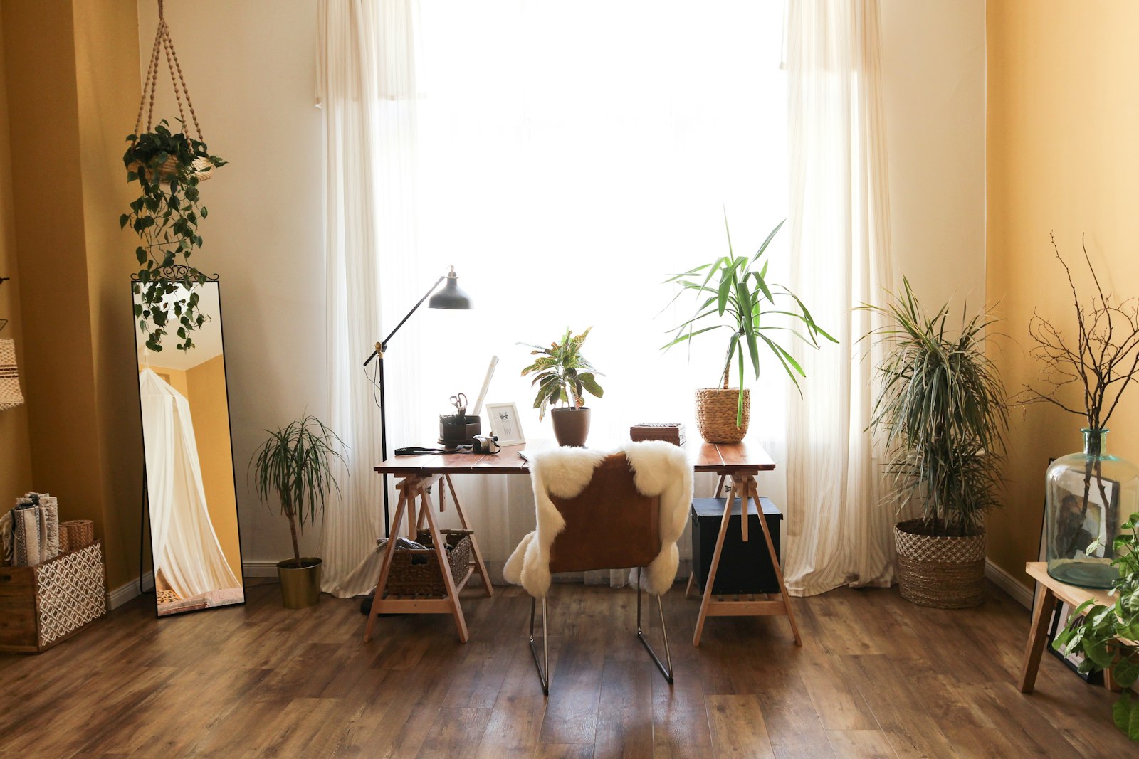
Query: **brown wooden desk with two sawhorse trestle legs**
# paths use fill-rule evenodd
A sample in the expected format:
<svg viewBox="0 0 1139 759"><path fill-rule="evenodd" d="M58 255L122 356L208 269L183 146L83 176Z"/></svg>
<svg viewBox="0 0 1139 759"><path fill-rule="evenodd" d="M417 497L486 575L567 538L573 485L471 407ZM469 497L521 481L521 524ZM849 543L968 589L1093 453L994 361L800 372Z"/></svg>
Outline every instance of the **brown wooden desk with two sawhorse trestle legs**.
<svg viewBox="0 0 1139 759"><path fill-rule="evenodd" d="M426 521L427 527L432 533L432 541L436 546L440 566L445 567L446 556L445 551L442 547L443 542L439 534L439 528L435 525L435 519L431 513L431 488L436 482L439 484L439 509L441 512L445 509L445 495L446 492L450 490L451 501L454 504L456 513L459 515L459 521L462 523L465 529L469 529L467 525L467 517L462 511L462 506L459 504L458 497L456 496L454 486L451 484L451 475L528 475L530 463L523 460L518 454L523 451L527 454L534 454L552 446L552 442L542 440L527 445L505 446L500 453L494 455L435 453L418 456L394 456L384 461L379 467L376 467L376 471L394 475L400 478L400 482L395 486L400 492L400 497L399 503L395 506L395 517L392 519L393 537L399 531L399 525L401 523L404 513L408 515L408 535L412 538L416 536L417 527L423 526L424 521ZM746 541L748 509L754 505L756 513L760 513L759 492L755 486L755 475L761 471L773 470L776 468L775 462L763 448L757 445L748 445L747 443L711 444L693 442L686 446L686 449L688 452L689 461L693 462L695 471L720 475L720 485L716 488L718 496L723 492L723 486L728 478L731 478L731 494L724 502L724 512L720 522L720 535L716 538L715 551L712 554L712 567L708 570L708 579L704 589L704 596L700 600L700 612L696 620L696 634L693 636L693 645L700 644L700 634L704 630L704 620L707 617L760 614L778 614L787 617L790 622L792 633L795 636L795 644L802 645L802 641L798 635L798 627L795 624L795 617L793 616L790 609L790 601L787 596L787 587L784 584L782 570L779 567L779 560L776 558L775 546L771 542L771 534L768 531L767 520L762 518L762 514L760 515L760 526L763 529L763 537L768 543L768 552L771 556L771 563L775 568L776 577L779 578L779 588L781 591L779 599L726 601L712 597L712 587L715 581L716 568L720 564L720 553L723 548L723 539L728 531L728 521L731 512L728 504L731 504L735 498L740 498L743 501L744 514L740 520L740 525L743 538ZM475 541L474 535L470 536L470 541L472 567L468 570L467 576L457 584L452 583L449 578L444 578L444 584L448 588L446 597L444 599L417 600L403 597L393 599L391 596L385 599L384 588L387 585L387 574L391 568L393 555L393 552L391 551L385 552L384 562L379 570L379 581L376 584L375 601L372 601L371 604L371 614L368 617L368 627L364 632L364 642L371 638L371 630L376 622L376 616L385 612L393 612L436 614L450 613L454 617L454 625L459 633L459 640L465 643L468 637L467 624L462 616L462 608L459 605L459 591L461 591L464 585L466 585L466 581L469 579L472 572L477 571L482 577L486 595L492 595L494 592L491 587L490 578L486 575L482 552L478 550L478 543ZM688 591L686 591L686 595L688 595L688 592L691 591L693 579L693 577L689 577Z"/></svg>

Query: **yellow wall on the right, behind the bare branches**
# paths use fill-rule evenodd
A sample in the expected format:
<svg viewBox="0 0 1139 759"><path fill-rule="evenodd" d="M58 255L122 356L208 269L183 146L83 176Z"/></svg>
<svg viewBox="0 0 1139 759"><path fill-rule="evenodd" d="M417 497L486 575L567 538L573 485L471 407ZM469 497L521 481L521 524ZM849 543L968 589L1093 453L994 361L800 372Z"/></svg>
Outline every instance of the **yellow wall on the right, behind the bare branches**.
<svg viewBox="0 0 1139 759"><path fill-rule="evenodd" d="M1013 340L994 354L1010 390L1038 377L1026 355L1033 310L1071 335L1060 253L1088 292L1080 236L1100 280L1139 295L1139 2L990 0L988 6L986 289ZM1077 406L1079 396L1071 398ZM990 559L1027 585L1049 456L1080 449L1079 416L1033 405L1014 414L1010 482L989 520ZM1139 461L1139 388L1108 422L1109 451Z"/></svg>

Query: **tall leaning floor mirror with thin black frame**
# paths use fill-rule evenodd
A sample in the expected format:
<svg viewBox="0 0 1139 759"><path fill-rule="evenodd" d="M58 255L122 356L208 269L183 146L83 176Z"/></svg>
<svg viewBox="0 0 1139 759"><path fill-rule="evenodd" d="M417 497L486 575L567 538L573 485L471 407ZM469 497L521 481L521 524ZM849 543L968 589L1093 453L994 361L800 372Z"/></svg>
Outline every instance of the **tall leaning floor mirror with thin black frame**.
<svg viewBox="0 0 1139 759"><path fill-rule="evenodd" d="M155 308L140 315L148 287L163 286L131 289L158 616L244 603L220 288L166 286L156 335ZM181 350L175 304L183 311L195 295L204 321Z"/></svg>

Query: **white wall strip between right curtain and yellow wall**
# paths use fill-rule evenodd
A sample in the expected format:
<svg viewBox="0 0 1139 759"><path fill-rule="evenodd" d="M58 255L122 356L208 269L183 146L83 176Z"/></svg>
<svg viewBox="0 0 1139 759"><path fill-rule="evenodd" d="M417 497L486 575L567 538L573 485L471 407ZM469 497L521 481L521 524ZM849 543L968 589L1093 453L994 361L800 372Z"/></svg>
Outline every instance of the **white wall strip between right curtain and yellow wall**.
<svg viewBox="0 0 1139 759"><path fill-rule="evenodd" d="M927 307L974 310L985 299L985 0L880 9L894 261Z"/></svg>

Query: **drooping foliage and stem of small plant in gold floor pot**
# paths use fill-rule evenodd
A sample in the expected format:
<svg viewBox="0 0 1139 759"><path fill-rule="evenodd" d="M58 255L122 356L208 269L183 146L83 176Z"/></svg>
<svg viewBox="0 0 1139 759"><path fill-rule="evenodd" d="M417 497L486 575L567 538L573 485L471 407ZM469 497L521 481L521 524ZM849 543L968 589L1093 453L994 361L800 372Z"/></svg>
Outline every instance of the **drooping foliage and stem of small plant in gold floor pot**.
<svg viewBox="0 0 1139 759"><path fill-rule="evenodd" d="M293 534L293 558L301 566L297 533L325 514L325 500L339 496L333 467L344 463L344 442L316 416L306 415L277 430L253 454L257 496L268 503L277 494Z"/></svg>

